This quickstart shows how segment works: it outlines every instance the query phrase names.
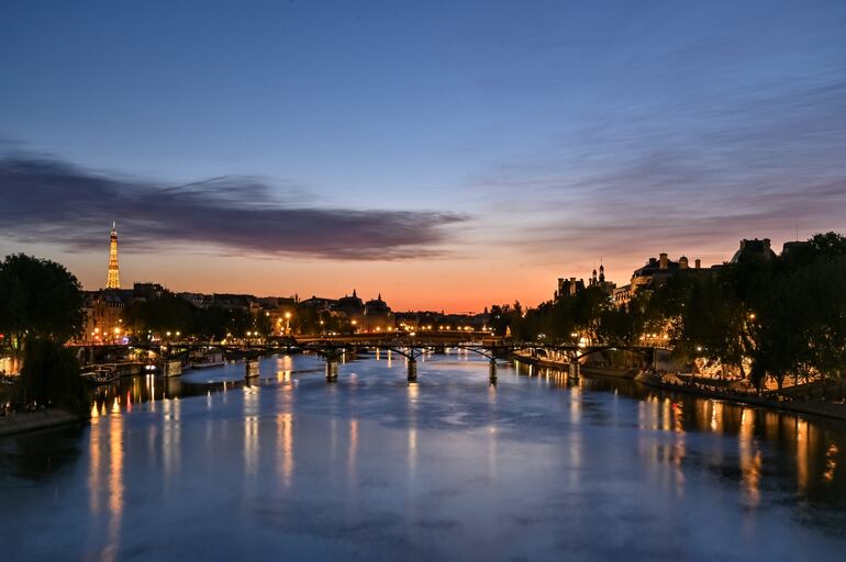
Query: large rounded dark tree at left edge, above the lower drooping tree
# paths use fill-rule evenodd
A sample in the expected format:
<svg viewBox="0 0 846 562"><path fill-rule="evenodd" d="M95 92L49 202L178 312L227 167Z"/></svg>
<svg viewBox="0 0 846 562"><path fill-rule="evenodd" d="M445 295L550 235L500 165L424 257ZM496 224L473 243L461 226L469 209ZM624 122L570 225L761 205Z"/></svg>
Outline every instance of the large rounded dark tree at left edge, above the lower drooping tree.
<svg viewBox="0 0 846 562"><path fill-rule="evenodd" d="M0 263L0 345L13 355L27 336L64 344L84 321L79 281L64 266L23 254Z"/></svg>

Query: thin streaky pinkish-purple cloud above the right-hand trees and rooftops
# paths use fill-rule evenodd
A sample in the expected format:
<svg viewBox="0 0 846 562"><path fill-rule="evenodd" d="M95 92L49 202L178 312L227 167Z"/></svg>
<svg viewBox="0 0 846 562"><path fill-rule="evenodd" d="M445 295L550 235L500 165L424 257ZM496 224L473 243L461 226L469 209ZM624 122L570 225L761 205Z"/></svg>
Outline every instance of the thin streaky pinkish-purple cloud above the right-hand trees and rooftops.
<svg viewBox="0 0 846 562"><path fill-rule="evenodd" d="M509 239L537 260L719 254L743 237L792 239L797 222L803 236L846 228L839 76L700 101L668 108L669 124L622 111L470 186L519 194L532 220Z"/></svg>

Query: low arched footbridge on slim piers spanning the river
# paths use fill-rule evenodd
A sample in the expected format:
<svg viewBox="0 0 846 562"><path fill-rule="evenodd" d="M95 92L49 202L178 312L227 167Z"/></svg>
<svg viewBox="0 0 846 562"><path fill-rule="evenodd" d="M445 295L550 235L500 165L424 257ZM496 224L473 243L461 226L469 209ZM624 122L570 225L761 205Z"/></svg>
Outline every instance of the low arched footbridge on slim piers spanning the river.
<svg viewBox="0 0 846 562"><path fill-rule="evenodd" d="M571 344L547 344L542 341L516 341L497 338L487 333L419 333L419 334L357 334L352 336L291 336L265 339L223 340L223 341L151 341L127 345L71 346L82 353L93 350L142 349L157 353L163 360L183 357L191 351L220 349L229 357L246 359L246 376L258 373L256 361L260 356L278 352L304 351L322 356L326 361L326 380L337 380L338 361L346 353L361 349L378 349L398 353L407 359L408 379L418 378L418 359L428 352L444 352L449 349L464 349L487 358L491 383L497 380L497 359L510 358L519 351L528 351L531 358L552 359L569 364L570 373L578 376L579 360L602 351L633 351L654 361L655 348L643 346L577 346ZM520 358L520 356L516 356ZM167 374L167 373L166 373Z"/></svg>

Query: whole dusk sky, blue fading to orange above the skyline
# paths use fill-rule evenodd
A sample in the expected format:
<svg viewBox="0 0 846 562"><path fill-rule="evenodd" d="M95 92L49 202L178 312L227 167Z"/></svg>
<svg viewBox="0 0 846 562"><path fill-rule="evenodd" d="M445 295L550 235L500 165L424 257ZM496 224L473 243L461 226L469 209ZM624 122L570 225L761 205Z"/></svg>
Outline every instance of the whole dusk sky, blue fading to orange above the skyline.
<svg viewBox="0 0 846 562"><path fill-rule="evenodd" d="M0 256L479 312L846 232L846 2L0 4Z"/></svg>

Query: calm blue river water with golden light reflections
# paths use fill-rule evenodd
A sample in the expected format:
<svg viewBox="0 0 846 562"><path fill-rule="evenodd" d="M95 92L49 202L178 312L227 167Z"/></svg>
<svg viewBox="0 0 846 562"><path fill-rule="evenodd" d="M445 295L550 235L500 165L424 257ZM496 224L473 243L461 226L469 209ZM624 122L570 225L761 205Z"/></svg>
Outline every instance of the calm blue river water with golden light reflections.
<svg viewBox="0 0 846 562"><path fill-rule="evenodd" d="M136 378L0 439L1 560L843 560L846 428L474 356ZM154 397L155 400L151 400Z"/></svg>

